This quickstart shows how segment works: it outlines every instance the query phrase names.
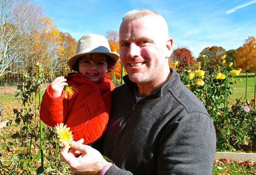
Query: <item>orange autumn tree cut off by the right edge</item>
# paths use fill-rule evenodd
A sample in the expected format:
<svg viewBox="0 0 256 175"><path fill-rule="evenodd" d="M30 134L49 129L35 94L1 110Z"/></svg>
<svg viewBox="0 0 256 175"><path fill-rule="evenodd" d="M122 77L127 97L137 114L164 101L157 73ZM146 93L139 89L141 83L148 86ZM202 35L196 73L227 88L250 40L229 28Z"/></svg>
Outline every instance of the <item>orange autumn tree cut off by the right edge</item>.
<svg viewBox="0 0 256 175"><path fill-rule="evenodd" d="M236 66L249 72L256 71L256 38L248 37L244 40L243 46L236 50Z"/></svg>

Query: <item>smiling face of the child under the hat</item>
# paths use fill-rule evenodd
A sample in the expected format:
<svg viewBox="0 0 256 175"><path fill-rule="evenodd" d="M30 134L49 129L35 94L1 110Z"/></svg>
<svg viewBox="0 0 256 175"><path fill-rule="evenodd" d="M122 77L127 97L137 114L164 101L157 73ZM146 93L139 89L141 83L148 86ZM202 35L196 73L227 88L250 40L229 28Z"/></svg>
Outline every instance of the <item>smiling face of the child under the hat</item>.
<svg viewBox="0 0 256 175"><path fill-rule="evenodd" d="M105 54L87 54L79 60L79 73L94 83L105 76L108 71L107 67L107 55Z"/></svg>

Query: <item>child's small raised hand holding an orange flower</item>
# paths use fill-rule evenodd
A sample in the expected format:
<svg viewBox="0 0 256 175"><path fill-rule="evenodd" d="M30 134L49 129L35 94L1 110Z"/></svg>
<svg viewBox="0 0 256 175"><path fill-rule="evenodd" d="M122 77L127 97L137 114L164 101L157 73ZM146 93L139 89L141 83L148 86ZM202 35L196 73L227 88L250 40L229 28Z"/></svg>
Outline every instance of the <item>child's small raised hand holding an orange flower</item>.
<svg viewBox="0 0 256 175"><path fill-rule="evenodd" d="M53 97L61 96L64 86L68 85L65 81L67 81L67 79L64 77L57 77L52 81L49 87L49 92Z"/></svg>

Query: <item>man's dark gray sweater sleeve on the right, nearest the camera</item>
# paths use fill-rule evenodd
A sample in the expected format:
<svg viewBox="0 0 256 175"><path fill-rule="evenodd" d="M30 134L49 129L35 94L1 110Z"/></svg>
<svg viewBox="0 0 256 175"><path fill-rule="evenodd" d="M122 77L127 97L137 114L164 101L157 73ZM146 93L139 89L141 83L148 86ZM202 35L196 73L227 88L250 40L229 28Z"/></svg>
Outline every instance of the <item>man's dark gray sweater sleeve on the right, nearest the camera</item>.
<svg viewBox="0 0 256 175"><path fill-rule="evenodd" d="M215 146L215 129L209 115L185 115L163 133L157 174L212 175Z"/></svg>

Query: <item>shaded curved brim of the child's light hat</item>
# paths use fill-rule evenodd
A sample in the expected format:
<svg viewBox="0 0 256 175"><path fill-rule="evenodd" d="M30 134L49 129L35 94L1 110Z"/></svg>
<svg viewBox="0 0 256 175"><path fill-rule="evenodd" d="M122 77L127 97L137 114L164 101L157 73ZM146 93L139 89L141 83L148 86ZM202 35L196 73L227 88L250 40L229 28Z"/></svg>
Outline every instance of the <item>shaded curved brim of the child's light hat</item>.
<svg viewBox="0 0 256 175"><path fill-rule="evenodd" d="M100 53L100 54L105 54L105 55L110 56L110 57L113 59L113 61L114 61L113 65L111 65L111 66L115 66L115 65L119 62L119 60L120 60L120 57L119 57L119 55L117 55L117 54L110 53L110 52L99 52L99 51L96 51L96 50L97 50L97 49L93 49L93 50L90 51L90 52L83 52L83 53L78 53L78 54L74 55L73 57L71 57L71 58L67 61L67 65L70 66L71 69L73 69L73 66L74 66L75 63L76 63L76 60L77 60L79 57L84 56L84 55L87 55L87 54L94 54L94 53Z"/></svg>

